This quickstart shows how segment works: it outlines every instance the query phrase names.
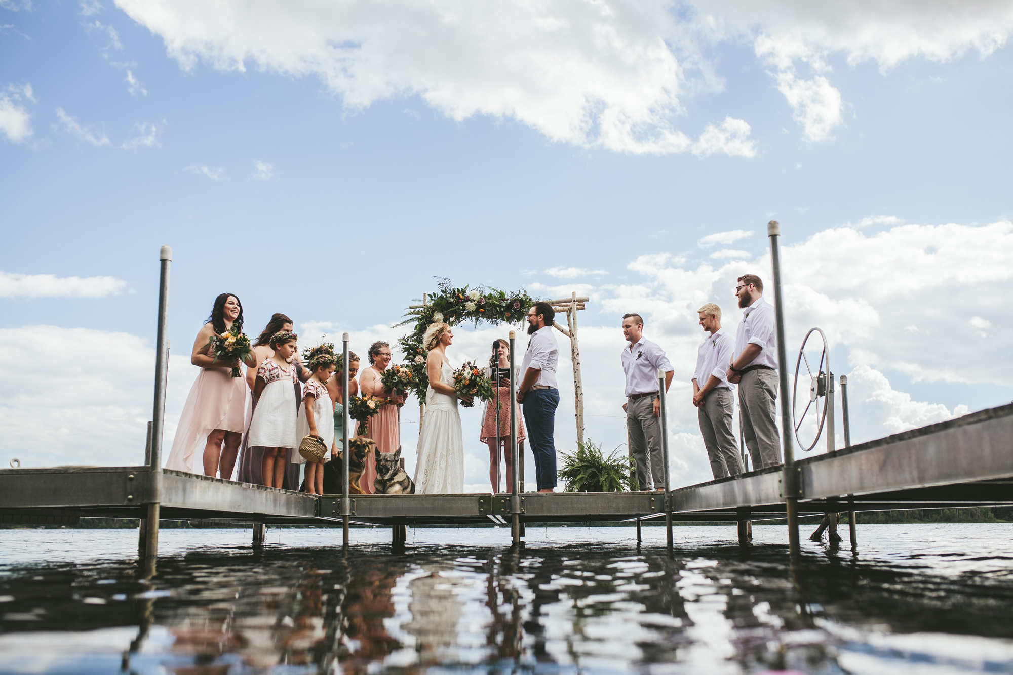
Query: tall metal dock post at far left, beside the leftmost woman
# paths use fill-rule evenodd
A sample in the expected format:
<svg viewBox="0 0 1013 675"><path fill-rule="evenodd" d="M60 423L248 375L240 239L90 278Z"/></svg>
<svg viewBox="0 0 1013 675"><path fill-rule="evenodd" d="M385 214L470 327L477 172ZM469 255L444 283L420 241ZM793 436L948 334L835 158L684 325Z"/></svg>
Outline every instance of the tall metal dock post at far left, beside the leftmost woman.
<svg viewBox="0 0 1013 675"><path fill-rule="evenodd" d="M158 253L161 265L158 284L158 332L155 337L155 401L151 414L151 444L147 455L148 471L154 478L155 495L161 499L162 492L162 431L165 425L165 387L169 372L169 337L166 324L169 319L169 268L172 265L172 247L163 246ZM138 552L141 558L151 561L149 567L154 573L154 560L158 556L158 515L159 501L145 505L141 523L141 541Z"/></svg>

